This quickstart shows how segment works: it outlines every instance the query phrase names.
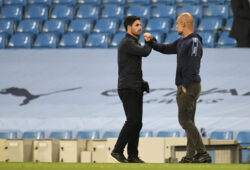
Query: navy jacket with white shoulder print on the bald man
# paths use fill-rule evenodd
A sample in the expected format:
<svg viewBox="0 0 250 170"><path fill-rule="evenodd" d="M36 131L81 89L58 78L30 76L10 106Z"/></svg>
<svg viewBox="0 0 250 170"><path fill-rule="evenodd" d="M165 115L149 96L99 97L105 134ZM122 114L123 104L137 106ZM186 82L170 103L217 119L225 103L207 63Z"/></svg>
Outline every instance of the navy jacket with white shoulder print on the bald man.
<svg viewBox="0 0 250 170"><path fill-rule="evenodd" d="M163 54L177 54L176 86L188 87L193 82L200 82L200 63L203 54L202 38L191 33L185 38L179 38L170 44L158 44L156 39L150 41L154 50Z"/></svg>

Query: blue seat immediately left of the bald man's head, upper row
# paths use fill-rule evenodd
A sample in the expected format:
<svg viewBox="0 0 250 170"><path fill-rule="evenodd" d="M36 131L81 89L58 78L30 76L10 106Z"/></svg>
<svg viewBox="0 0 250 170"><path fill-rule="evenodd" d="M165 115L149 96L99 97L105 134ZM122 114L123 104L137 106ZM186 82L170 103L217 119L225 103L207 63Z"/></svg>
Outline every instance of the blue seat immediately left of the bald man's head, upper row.
<svg viewBox="0 0 250 170"><path fill-rule="evenodd" d="M151 17L157 18L176 18L176 7L170 5L158 5L151 7Z"/></svg>

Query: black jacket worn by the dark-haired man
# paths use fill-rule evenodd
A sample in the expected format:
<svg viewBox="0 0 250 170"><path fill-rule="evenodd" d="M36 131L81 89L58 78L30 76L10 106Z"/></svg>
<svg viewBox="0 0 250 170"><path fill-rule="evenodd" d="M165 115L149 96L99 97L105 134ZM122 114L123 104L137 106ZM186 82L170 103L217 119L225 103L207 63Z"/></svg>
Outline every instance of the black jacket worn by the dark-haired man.
<svg viewBox="0 0 250 170"><path fill-rule="evenodd" d="M135 37L125 35L118 47L118 89L142 88L142 57L151 50L149 43L141 46Z"/></svg>

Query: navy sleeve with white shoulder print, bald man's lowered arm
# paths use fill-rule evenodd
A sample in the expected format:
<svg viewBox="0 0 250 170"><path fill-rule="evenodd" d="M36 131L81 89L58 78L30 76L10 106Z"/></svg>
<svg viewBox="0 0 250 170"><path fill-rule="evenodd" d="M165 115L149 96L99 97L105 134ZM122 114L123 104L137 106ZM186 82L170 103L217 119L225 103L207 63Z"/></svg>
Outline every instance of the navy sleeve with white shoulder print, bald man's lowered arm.
<svg viewBox="0 0 250 170"><path fill-rule="evenodd" d="M182 85L186 89L192 84L197 77L200 78L200 62L202 57L202 44L198 38L193 38L192 41L187 45L187 58L185 59L185 64L183 65L182 75L183 82Z"/></svg>

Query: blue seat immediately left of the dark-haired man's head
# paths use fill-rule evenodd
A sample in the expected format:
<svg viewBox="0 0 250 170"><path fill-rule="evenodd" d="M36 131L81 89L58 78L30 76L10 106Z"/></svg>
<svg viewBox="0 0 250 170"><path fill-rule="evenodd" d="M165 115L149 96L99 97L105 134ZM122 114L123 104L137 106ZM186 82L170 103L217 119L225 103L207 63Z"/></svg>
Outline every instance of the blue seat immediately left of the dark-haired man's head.
<svg viewBox="0 0 250 170"><path fill-rule="evenodd" d="M107 32L107 33L115 33L118 29L119 23L118 19L99 19L96 22L96 25L93 29L93 32Z"/></svg>

